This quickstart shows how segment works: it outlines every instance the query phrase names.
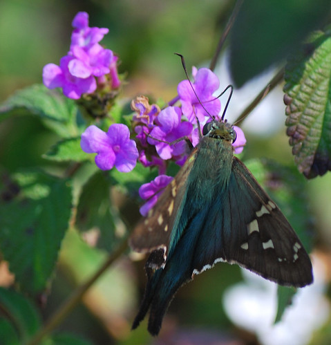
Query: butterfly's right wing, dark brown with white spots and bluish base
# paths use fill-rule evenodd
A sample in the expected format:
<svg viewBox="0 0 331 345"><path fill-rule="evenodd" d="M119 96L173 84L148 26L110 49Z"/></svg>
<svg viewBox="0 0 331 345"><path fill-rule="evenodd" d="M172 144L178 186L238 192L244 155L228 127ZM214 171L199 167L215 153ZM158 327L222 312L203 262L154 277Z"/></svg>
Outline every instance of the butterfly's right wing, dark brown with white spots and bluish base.
<svg viewBox="0 0 331 345"><path fill-rule="evenodd" d="M285 286L312 283L312 263L281 210L234 157L226 197L216 193L193 256L198 274L218 261L238 263Z"/></svg>

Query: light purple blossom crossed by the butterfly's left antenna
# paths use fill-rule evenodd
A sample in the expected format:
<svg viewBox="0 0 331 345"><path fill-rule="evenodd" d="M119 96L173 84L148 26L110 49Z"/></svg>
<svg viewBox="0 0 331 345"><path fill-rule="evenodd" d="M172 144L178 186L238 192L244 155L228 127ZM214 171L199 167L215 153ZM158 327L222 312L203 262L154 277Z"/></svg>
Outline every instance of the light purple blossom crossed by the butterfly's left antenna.
<svg viewBox="0 0 331 345"><path fill-rule="evenodd" d="M194 82L192 84L194 91L199 97L209 115L216 115L220 112L220 100L215 99L213 93L220 86L220 81L215 73L209 68L200 68L197 72L193 70ZM206 121L205 116L209 116L202 108L199 100L194 94L188 80L183 80L178 84L178 95L182 102L182 113L187 116L189 122L196 123L196 117L203 125Z"/></svg>

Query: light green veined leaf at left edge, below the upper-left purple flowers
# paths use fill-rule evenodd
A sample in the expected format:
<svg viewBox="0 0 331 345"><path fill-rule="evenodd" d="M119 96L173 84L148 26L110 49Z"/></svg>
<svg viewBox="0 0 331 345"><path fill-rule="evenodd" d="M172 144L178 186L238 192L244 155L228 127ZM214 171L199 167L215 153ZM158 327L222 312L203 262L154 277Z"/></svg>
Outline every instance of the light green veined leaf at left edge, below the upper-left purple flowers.
<svg viewBox="0 0 331 345"><path fill-rule="evenodd" d="M64 138L80 133L77 105L56 90L42 84L23 88L0 106L0 120L14 115L36 115L46 125Z"/></svg>

